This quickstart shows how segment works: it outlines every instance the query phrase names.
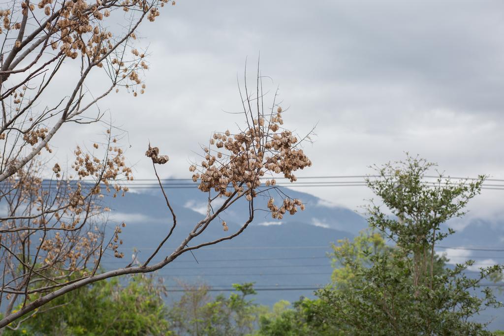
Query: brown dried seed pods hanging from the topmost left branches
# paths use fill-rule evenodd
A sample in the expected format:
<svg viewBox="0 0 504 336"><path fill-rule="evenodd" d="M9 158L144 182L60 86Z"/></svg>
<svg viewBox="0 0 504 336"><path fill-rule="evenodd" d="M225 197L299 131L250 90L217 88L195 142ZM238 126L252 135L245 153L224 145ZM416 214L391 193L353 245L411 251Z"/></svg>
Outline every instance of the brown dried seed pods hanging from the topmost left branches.
<svg viewBox="0 0 504 336"><path fill-rule="evenodd" d="M145 53L139 52L133 47L134 58L118 55L115 49L118 44L123 43L122 36L113 31L107 31L104 27L108 25L104 21L111 16L114 10L122 9L125 12L132 10L135 13L140 13L141 16L145 15L149 21L153 22L160 15L159 7L164 7L166 3L170 3L170 1L111 0L102 2L97 0L96 2L88 2L75 0L53 3L53 0L41 0L37 5L23 1L19 2L19 5L16 4L21 11L17 11L17 9L14 12L11 9L0 10L2 28L5 29L4 31L0 28L0 34L8 34L10 31L21 29L23 17L33 16L36 26L43 28L44 34L49 35L47 47L59 51L61 55L66 57L76 59L82 56L98 68L108 68L110 75L113 74L117 77L115 79L117 84L128 80L129 83L121 85L130 88L131 85L142 83L139 71L148 69L148 64L144 59ZM175 5L175 2L171 2L171 4ZM21 14L20 17L19 14ZM11 20L19 22L11 22ZM135 32L132 32L129 38L136 39ZM118 41L121 42L118 43ZM28 39L16 39L13 42L13 47L23 49L30 42L32 41ZM137 91L144 93L144 90L145 86L132 92L134 96L137 96Z"/></svg>

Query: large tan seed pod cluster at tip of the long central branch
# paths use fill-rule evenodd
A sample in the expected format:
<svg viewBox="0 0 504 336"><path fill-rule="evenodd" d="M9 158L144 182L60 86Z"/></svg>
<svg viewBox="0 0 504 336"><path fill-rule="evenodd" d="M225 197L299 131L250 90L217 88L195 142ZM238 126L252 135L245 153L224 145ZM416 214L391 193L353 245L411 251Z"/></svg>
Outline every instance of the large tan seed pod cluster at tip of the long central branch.
<svg viewBox="0 0 504 336"><path fill-rule="evenodd" d="M258 188L262 180L266 179L267 187L276 184L276 175L294 182L293 172L311 166L311 161L298 148L298 139L281 125L282 109L278 107L276 113L267 117L250 119L244 131L214 133L209 147L204 148L204 160L189 168L194 173L193 181L199 183L201 191L213 190L224 197L236 192L249 201L261 192ZM286 198L277 208L271 198L270 204L273 218L279 219L286 212L294 214L297 207L304 209L298 199Z"/></svg>

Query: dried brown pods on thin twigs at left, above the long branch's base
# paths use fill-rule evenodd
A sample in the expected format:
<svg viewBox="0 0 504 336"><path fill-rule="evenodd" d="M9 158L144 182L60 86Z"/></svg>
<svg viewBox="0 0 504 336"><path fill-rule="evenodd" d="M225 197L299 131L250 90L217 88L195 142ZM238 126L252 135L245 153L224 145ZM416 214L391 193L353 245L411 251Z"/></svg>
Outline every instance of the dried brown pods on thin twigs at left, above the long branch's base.
<svg viewBox="0 0 504 336"><path fill-rule="evenodd" d="M115 143L115 140L111 143ZM99 148L98 145L93 147ZM75 272L86 272L90 265L94 267L98 261L104 232L94 223L103 220L100 215L109 211L98 201L101 196L100 185L105 185L115 196L119 191L126 192L128 188L116 183L112 185L111 181L133 178L120 148L110 147L107 153L105 159L99 160L90 153L83 153L78 147L74 152L76 159L73 164L77 181L60 179L62 169L56 163L51 169L56 180L48 184L47 180L40 177L44 165L40 161L33 161L9 177L7 183L0 185L0 191L4 194L2 202L8 206L8 213L12 217L12 220L0 222L3 242L8 242L12 253L21 254L24 253L23 246L33 245L38 250L39 259L34 266L35 272L46 277L56 273L57 277L64 279ZM93 178L95 183L87 182L88 179L84 179L86 177ZM13 187L16 192L8 192ZM117 258L124 256L118 250L122 244L119 234L124 226L122 223L116 227L108 246ZM44 234L37 229L43 229ZM16 260L8 258L7 262L13 269L23 272L22 267L16 268Z"/></svg>

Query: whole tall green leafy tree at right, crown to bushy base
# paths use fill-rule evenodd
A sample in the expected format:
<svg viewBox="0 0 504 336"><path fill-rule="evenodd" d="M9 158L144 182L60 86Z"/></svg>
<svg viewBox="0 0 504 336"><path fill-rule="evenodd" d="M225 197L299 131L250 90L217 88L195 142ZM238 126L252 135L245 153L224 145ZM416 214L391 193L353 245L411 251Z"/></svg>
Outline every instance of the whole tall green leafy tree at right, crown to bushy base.
<svg viewBox="0 0 504 336"><path fill-rule="evenodd" d="M325 304L316 313L344 334L490 334L485 323L471 318L487 306L501 306L489 288L480 287L501 266L481 268L478 277L469 278L464 271L472 260L442 271L443 260L434 252L437 242L454 233L442 225L465 214L484 176L454 183L439 174L429 183L424 177L433 166L408 156L406 162L375 167L379 177L367 179L388 208L384 212L371 203L370 227L396 246L386 248L372 235L335 249L343 271L336 271L333 280L343 280L344 286L319 291Z"/></svg>

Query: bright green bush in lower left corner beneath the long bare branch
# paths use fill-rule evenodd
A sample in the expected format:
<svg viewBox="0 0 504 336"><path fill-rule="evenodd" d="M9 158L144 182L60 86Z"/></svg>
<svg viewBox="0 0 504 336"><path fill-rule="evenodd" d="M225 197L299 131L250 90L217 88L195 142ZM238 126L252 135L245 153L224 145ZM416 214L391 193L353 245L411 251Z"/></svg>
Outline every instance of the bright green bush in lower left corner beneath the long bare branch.
<svg viewBox="0 0 504 336"><path fill-rule="evenodd" d="M6 335L170 335L162 288L143 275L100 281L61 296Z"/></svg>

